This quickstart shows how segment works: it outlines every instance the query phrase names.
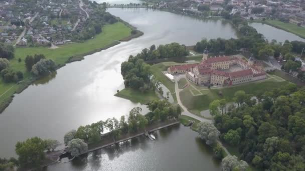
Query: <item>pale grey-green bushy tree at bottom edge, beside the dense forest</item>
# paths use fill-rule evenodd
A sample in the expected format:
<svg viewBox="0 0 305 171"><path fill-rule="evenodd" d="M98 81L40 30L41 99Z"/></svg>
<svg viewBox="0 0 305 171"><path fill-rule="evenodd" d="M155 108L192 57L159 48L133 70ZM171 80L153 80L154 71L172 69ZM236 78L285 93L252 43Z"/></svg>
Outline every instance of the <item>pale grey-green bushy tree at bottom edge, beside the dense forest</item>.
<svg viewBox="0 0 305 171"><path fill-rule="evenodd" d="M244 171L248 168L248 163L244 160L238 160L235 155L227 155L222 159L221 167L224 171L240 170Z"/></svg>

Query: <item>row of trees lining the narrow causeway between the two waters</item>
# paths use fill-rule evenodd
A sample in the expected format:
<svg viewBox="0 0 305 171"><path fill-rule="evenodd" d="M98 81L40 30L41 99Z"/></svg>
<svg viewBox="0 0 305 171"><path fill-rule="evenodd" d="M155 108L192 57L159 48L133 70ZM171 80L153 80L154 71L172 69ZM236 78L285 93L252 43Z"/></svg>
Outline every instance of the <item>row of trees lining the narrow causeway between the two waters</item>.
<svg viewBox="0 0 305 171"><path fill-rule="evenodd" d="M121 134L145 130L149 123L178 118L181 114L180 107L175 108L167 100L151 101L148 108L150 112L146 115L141 114L140 107L134 107L129 111L127 118L124 115L119 120L112 117L71 130L64 136L65 145L68 146L71 155L77 156L88 150L87 143L97 143L105 138L104 132L107 132L108 138L112 137L115 140Z"/></svg>

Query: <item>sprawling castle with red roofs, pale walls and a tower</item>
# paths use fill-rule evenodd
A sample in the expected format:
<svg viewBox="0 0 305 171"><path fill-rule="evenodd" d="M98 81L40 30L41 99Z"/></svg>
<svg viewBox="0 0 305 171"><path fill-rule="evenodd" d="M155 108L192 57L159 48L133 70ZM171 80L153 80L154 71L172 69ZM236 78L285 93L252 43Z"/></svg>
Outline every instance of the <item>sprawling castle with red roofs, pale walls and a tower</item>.
<svg viewBox="0 0 305 171"><path fill-rule="evenodd" d="M206 50L200 63L170 66L168 72L185 73L196 84L235 85L266 78L266 72L251 59L245 62L234 56L208 57Z"/></svg>

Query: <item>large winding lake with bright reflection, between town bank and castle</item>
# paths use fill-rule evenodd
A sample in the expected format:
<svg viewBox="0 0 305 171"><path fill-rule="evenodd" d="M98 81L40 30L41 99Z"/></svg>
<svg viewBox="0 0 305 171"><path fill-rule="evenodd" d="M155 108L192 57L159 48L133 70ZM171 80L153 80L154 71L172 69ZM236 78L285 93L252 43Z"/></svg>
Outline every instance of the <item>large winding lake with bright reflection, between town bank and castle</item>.
<svg viewBox="0 0 305 171"><path fill-rule="evenodd" d="M0 157L16 156L15 144L19 140L39 136L63 142L64 134L80 125L119 118L135 106L146 109L113 95L124 87L120 64L129 54L151 44L176 41L192 45L204 37L236 38L234 28L221 20L199 20L144 8L108 11L133 24L144 35L69 63L49 79L16 94L0 114Z"/></svg>

